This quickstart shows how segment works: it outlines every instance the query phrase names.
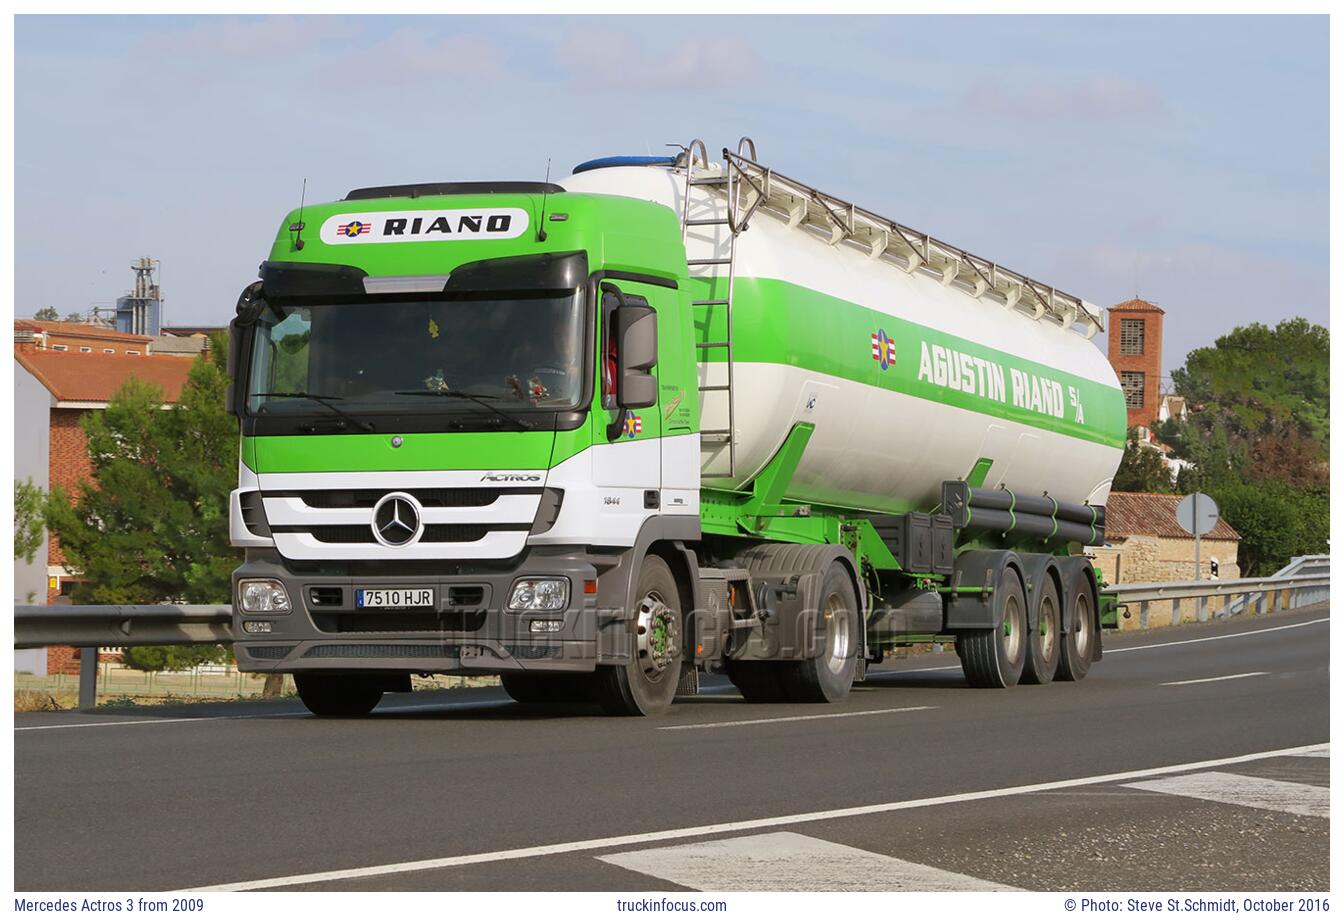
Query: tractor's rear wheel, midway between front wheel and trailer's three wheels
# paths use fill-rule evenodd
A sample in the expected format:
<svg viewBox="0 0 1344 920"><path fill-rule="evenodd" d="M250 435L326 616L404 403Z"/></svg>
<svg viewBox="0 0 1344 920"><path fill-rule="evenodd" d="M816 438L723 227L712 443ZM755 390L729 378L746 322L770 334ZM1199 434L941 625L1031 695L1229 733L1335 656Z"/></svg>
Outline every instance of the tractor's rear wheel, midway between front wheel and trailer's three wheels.
<svg viewBox="0 0 1344 920"><path fill-rule="evenodd" d="M827 568L820 598L816 630L821 649L814 658L788 662L780 670L784 692L793 702L840 702L853 686L862 620L859 595L843 563Z"/></svg>

